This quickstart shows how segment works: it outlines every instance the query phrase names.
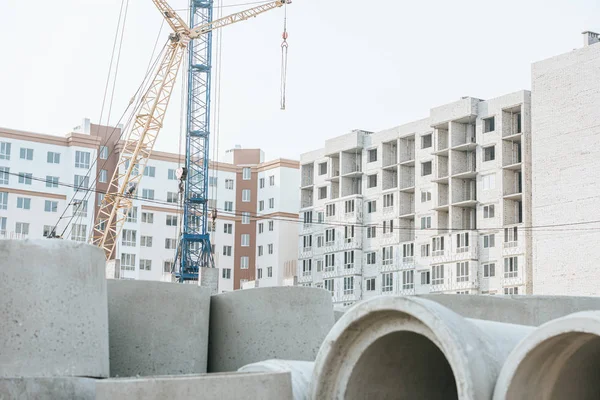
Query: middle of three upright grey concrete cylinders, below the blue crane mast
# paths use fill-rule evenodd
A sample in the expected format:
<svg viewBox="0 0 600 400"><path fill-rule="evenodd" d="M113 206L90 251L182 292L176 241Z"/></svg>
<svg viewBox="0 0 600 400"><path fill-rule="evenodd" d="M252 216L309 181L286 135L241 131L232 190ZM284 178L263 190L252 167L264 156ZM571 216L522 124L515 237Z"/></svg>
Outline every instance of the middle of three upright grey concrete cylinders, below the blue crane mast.
<svg viewBox="0 0 600 400"><path fill-rule="evenodd" d="M210 289L108 281L111 376L206 372Z"/></svg>

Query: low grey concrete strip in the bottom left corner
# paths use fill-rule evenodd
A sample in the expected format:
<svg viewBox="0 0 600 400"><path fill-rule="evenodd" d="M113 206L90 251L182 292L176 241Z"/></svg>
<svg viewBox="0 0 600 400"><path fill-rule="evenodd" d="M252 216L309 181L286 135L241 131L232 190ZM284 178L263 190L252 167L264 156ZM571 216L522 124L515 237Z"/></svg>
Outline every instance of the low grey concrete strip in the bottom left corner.
<svg viewBox="0 0 600 400"><path fill-rule="evenodd" d="M0 378L1 400L95 400L96 379Z"/></svg>

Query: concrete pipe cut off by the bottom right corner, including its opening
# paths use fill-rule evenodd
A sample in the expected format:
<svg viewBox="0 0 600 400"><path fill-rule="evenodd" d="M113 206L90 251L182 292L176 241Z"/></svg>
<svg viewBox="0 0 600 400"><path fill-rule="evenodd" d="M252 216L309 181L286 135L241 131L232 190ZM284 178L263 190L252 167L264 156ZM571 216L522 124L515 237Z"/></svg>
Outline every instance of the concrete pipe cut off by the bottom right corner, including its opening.
<svg viewBox="0 0 600 400"><path fill-rule="evenodd" d="M600 312L550 321L529 334L502 368L494 400L600 398Z"/></svg>

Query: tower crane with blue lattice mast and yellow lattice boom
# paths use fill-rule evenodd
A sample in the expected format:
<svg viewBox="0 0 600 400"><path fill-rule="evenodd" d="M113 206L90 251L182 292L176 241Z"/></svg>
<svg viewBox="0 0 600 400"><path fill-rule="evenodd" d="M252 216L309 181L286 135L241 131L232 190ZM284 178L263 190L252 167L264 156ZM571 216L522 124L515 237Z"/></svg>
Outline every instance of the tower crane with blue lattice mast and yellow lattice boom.
<svg viewBox="0 0 600 400"><path fill-rule="evenodd" d="M291 0L271 1L214 21L213 0L190 0L189 26L166 0L152 1L173 32L169 35L167 49L156 73L141 98L132 128L125 136L90 241L102 248L110 259L133 206L143 170L162 128L181 62L189 48L186 162L179 171L180 185L184 188L183 234L178 251L180 264L174 272L179 281L196 280L199 267L214 267L207 232L211 33L282 7Z"/></svg>

